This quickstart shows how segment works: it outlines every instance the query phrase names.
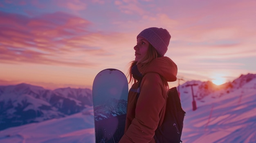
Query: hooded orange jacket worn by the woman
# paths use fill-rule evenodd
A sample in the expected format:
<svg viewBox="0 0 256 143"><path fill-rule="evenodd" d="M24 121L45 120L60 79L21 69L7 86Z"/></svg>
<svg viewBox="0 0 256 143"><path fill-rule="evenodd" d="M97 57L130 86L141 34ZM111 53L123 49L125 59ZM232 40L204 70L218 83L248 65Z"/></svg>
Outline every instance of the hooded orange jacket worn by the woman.
<svg viewBox="0 0 256 143"><path fill-rule="evenodd" d="M137 65L139 71L141 66ZM145 67L140 85L140 95L129 91L125 134L119 143L155 143L154 135L158 125L162 125L167 95L163 81L176 81L177 66L168 57L153 59ZM138 88L138 82L132 85Z"/></svg>

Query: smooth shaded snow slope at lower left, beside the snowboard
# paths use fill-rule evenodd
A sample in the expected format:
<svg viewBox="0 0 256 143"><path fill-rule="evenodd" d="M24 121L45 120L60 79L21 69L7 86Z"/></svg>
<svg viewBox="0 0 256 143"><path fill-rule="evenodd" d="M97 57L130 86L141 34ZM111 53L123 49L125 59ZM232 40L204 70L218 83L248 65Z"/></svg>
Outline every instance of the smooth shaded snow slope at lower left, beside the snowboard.
<svg viewBox="0 0 256 143"><path fill-rule="evenodd" d="M0 131L0 143L94 143L93 108Z"/></svg>

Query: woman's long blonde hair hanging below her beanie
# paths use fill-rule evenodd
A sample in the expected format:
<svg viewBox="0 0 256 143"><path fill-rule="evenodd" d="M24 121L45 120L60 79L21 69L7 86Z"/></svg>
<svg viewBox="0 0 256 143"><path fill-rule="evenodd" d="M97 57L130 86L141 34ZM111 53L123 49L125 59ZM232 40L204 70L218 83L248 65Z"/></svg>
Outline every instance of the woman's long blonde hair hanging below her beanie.
<svg viewBox="0 0 256 143"><path fill-rule="evenodd" d="M132 77L132 67L135 66L136 64L144 64L144 65L147 65L149 64L153 59L159 57L159 54L157 53L157 51L155 50L155 48L149 44L148 46L148 51L146 53L146 55L144 57L142 57L141 59L139 59L139 61L132 61L130 62L129 64L129 70L128 70L128 77L129 77L129 84L132 82L136 83L137 82L137 79L133 78ZM143 66L143 67L146 67L146 66ZM144 73L144 68L142 67L141 69L141 73ZM169 88L168 86L168 82L166 81L166 79L164 79L161 75L160 75L162 81L163 81L163 84L164 86L166 87L166 89Z"/></svg>

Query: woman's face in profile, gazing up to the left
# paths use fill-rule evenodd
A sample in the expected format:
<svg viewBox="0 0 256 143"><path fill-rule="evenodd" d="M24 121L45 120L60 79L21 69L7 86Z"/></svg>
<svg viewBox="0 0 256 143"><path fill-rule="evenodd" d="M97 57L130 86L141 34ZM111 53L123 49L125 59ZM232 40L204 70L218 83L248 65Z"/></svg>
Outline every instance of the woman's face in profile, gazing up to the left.
<svg viewBox="0 0 256 143"><path fill-rule="evenodd" d="M137 45L134 47L135 50L135 61L139 61L148 51L150 43L143 37L138 37Z"/></svg>

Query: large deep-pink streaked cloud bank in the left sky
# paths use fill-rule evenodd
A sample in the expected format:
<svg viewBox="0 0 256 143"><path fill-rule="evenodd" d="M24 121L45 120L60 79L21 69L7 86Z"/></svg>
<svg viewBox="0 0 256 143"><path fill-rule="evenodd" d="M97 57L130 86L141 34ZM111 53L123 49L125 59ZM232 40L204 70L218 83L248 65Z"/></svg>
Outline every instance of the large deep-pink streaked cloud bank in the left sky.
<svg viewBox="0 0 256 143"><path fill-rule="evenodd" d="M1 62L91 66L94 63L83 57L108 53L90 42L95 33L87 30L91 23L83 18L65 13L28 18L3 12L0 17Z"/></svg>

